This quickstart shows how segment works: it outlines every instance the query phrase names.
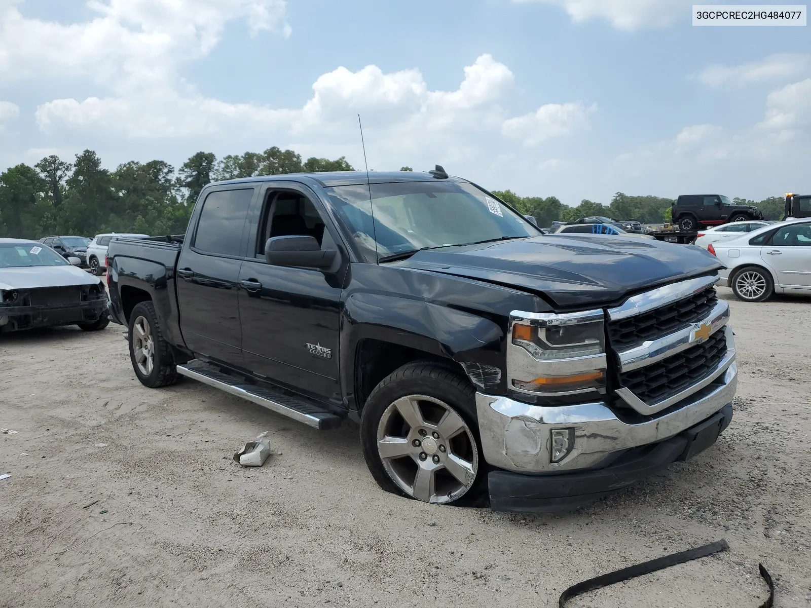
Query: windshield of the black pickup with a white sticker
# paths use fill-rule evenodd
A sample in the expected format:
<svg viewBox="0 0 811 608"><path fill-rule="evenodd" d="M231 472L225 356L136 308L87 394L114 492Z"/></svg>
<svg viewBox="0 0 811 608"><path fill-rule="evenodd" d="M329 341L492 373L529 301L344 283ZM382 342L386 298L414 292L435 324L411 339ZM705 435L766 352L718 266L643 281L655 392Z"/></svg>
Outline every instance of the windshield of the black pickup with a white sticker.
<svg viewBox="0 0 811 608"><path fill-rule="evenodd" d="M421 249L507 238L540 230L476 186L397 182L326 189L367 262Z"/></svg>

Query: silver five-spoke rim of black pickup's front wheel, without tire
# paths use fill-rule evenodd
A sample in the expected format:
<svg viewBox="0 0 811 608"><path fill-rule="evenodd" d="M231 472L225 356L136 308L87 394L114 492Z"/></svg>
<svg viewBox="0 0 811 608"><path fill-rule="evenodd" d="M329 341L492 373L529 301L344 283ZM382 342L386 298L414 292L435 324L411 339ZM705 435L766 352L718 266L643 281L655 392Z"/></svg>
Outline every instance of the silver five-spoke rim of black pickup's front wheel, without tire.
<svg viewBox="0 0 811 608"><path fill-rule="evenodd" d="M478 446L464 419L448 404L408 395L389 405L377 427L377 452L392 481L426 503L465 495L478 473Z"/></svg>

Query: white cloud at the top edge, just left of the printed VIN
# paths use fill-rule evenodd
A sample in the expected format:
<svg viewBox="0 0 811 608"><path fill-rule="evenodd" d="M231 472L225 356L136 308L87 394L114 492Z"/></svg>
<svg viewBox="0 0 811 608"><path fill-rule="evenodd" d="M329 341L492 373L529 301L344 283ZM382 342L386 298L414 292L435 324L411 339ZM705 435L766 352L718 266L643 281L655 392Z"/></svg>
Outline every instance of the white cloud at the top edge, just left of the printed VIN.
<svg viewBox="0 0 811 608"><path fill-rule="evenodd" d="M573 21L607 19L617 29L663 27L676 19L691 18L689 0L513 0L547 2L562 6Z"/></svg>

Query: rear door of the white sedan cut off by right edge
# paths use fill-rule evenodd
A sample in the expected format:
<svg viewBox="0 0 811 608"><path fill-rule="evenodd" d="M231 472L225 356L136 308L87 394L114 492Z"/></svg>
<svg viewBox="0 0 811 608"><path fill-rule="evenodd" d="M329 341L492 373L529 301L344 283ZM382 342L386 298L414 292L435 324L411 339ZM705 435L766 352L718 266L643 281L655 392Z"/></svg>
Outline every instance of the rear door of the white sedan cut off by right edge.
<svg viewBox="0 0 811 608"><path fill-rule="evenodd" d="M811 222L783 226L762 247L761 255L777 270L779 285L811 289Z"/></svg>

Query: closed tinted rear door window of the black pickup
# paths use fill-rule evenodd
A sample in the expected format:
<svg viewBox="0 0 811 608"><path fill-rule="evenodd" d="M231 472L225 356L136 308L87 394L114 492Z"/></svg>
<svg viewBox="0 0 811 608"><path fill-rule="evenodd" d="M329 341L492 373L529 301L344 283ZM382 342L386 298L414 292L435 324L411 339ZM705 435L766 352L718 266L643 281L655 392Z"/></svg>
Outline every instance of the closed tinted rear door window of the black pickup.
<svg viewBox="0 0 811 608"><path fill-rule="evenodd" d="M197 223L195 249L212 254L239 255L242 229L253 193L253 188L250 188L209 194Z"/></svg>

